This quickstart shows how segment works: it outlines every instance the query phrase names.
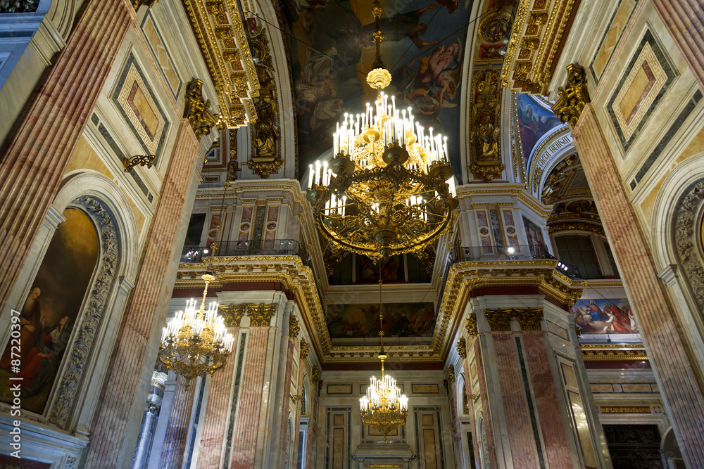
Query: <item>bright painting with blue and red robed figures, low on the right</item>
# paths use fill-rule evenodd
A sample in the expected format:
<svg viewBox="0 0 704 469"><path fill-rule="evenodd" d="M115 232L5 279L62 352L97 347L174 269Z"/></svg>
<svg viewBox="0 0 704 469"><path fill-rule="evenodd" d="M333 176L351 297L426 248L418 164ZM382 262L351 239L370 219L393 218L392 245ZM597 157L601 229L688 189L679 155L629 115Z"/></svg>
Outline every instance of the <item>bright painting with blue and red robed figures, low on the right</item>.
<svg viewBox="0 0 704 469"><path fill-rule="evenodd" d="M633 309L625 298L577 300L570 309L582 333L638 333Z"/></svg>

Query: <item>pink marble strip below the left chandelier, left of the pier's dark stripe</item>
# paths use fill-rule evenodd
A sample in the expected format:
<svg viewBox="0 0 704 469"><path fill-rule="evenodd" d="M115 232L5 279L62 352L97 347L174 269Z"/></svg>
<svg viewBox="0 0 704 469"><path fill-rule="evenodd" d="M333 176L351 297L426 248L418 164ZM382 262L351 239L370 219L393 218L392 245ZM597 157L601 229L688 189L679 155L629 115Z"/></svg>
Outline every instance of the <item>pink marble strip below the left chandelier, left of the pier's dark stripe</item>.
<svg viewBox="0 0 704 469"><path fill-rule="evenodd" d="M227 331L234 338L238 337L239 328L228 328ZM235 340L234 347L239 343ZM203 416L203 430L198 450L199 468L215 468L220 464L222 449L227 437L227 424L230 421L230 402L232 401L232 374L237 350L233 350L230 359L222 369L213 373L208 388L208 403L206 414Z"/></svg>

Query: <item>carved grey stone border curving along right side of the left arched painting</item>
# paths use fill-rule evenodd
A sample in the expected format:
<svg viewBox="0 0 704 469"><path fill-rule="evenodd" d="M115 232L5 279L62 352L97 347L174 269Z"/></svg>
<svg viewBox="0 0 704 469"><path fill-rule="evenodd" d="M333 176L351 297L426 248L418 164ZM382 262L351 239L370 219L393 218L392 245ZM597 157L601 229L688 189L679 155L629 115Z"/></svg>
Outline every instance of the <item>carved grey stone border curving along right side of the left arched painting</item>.
<svg viewBox="0 0 704 469"><path fill-rule="evenodd" d="M113 285L118 264L118 235L112 214L103 207L100 200L89 195L76 198L72 205L80 207L94 221L96 231L99 233L101 252L89 297L82 311L80 323L77 323L79 330L73 344L67 350L68 363L61 375L58 392L49 411L49 422L59 428L65 428L68 425L71 409L75 406L76 394L103 318L108 292Z"/></svg>

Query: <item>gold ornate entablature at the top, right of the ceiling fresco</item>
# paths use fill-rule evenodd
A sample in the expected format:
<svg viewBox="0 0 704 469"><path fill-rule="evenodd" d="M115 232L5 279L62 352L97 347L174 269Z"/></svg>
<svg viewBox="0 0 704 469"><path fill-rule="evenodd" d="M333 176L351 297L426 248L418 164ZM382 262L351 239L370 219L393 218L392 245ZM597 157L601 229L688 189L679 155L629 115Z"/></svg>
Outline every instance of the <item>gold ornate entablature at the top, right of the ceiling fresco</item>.
<svg viewBox="0 0 704 469"><path fill-rule="evenodd" d="M545 94L570 23L574 0L520 0L506 51L501 84Z"/></svg>

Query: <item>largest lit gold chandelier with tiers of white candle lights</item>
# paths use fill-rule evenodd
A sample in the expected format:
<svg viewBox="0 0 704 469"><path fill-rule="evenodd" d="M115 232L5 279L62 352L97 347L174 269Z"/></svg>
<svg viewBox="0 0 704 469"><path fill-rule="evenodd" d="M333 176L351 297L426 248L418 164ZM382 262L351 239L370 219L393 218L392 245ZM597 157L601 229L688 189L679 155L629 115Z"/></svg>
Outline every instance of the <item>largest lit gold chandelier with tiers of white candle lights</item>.
<svg viewBox="0 0 704 469"><path fill-rule="evenodd" d="M415 122L382 89L391 83L382 63L379 1L372 4L377 58L367 83L377 101L345 114L333 135L334 158L310 165L306 197L334 245L373 259L418 252L446 231L459 203L447 138Z"/></svg>

